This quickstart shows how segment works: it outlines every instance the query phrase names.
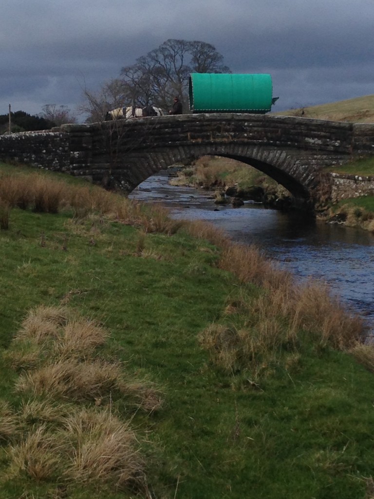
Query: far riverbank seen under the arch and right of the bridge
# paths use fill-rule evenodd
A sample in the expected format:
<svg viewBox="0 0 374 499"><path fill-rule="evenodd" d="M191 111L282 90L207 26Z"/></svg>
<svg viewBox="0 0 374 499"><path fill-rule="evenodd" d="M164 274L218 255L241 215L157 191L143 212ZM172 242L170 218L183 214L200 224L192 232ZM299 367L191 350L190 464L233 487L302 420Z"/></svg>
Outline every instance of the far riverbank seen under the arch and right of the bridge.
<svg viewBox="0 0 374 499"><path fill-rule="evenodd" d="M374 195L371 195L373 189L370 181L373 179L374 182L374 158L358 159L333 169L326 168L325 173L339 179L347 177L348 183L352 177L353 186L347 185L339 199L335 194L335 202L319 209L317 218L328 223L374 232ZM359 196L360 185L358 180L355 181L355 175L360 176L360 179L369 179L369 188L366 188L368 194ZM190 167L178 171L171 178L170 184L212 191L212 198L217 205L232 204L237 207L250 200L284 211L290 209L292 204L290 193L277 182L255 168L228 158L199 158ZM350 192L355 197L349 197ZM341 199L342 196L345 199Z"/></svg>

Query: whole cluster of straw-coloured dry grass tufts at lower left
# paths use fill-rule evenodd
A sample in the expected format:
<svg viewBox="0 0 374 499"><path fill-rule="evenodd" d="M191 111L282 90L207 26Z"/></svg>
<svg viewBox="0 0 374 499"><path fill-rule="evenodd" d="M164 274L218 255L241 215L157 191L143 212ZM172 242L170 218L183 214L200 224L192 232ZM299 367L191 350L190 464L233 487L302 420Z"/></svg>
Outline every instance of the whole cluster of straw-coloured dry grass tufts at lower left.
<svg viewBox="0 0 374 499"><path fill-rule="evenodd" d="M39 307L24 319L9 351L18 362L23 356L15 391L31 398L23 399L17 414L0 404L0 438L12 444L9 479L147 489L137 438L130 423L112 413L112 400L125 397L129 408L153 412L162 405L161 394L150 382L125 379L119 362L100 358L96 350L108 335L64 307ZM36 361L26 366L31 354ZM110 409L85 408L87 403Z"/></svg>

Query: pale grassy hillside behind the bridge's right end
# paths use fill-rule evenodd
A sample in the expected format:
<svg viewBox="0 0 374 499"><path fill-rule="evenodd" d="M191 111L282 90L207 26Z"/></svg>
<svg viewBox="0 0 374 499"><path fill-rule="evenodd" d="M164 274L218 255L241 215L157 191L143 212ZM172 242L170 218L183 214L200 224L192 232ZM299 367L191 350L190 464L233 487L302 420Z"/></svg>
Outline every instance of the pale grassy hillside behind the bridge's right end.
<svg viewBox="0 0 374 499"><path fill-rule="evenodd" d="M304 114L302 114L304 111ZM271 114L304 116L320 120L347 121L352 123L374 123L374 95L341 100L320 106L301 107Z"/></svg>

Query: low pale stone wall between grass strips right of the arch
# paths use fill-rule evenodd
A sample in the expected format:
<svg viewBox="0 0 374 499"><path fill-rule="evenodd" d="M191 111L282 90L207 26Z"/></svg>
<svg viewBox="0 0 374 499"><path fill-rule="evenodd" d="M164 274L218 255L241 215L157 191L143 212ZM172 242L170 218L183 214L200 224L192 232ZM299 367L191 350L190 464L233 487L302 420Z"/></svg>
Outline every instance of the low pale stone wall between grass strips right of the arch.
<svg viewBox="0 0 374 499"><path fill-rule="evenodd" d="M374 196L374 177L359 175L330 174L332 178L331 200L337 203L342 199Z"/></svg>

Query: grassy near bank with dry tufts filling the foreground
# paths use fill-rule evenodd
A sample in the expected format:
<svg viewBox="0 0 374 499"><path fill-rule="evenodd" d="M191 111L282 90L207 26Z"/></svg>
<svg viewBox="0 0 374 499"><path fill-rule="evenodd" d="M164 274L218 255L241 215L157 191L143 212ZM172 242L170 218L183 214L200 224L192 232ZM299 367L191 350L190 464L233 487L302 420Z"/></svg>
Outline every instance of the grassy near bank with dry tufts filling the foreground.
<svg viewBox="0 0 374 499"><path fill-rule="evenodd" d="M8 172L1 497L370 497L373 350L328 290L204 224Z"/></svg>

